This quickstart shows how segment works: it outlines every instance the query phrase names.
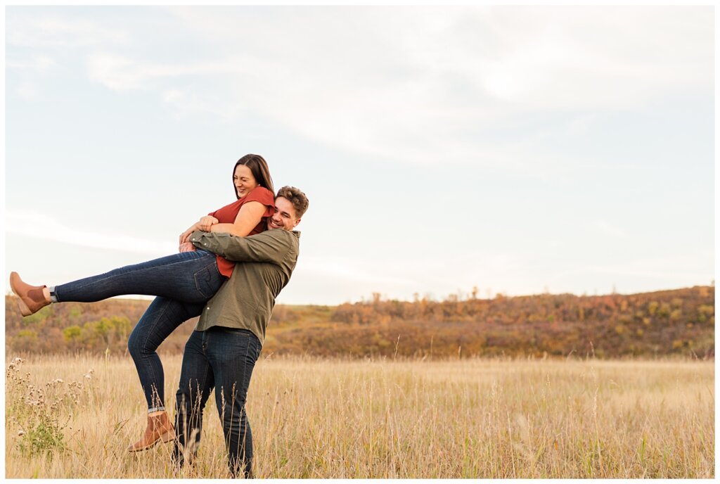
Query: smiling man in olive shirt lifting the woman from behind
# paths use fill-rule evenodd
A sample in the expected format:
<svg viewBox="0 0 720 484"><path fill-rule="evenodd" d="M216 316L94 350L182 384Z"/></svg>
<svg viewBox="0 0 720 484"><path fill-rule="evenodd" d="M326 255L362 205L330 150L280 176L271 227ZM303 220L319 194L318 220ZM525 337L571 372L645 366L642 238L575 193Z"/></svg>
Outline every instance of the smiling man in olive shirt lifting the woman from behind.
<svg viewBox="0 0 720 484"><path fill-rule="evenodd" d="M194 232L198 248L238 261L233 275L207 303L185 345L176 394L177 439L173 457L182 466L197 452L202 410L215 389L228 467L233 477L251 477L253 444L245 402L250 377L265 339L275 298L297 263L300 233L293 230L307 210L307 197L282 187L268 229L249 237Z"/></svg>

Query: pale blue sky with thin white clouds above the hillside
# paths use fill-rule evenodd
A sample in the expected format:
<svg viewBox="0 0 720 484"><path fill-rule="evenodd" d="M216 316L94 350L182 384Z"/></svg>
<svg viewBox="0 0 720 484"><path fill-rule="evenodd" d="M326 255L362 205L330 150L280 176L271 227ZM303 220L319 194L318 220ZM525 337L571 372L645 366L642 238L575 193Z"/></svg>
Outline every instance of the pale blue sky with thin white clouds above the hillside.
<svg viewBox="0 0 720 484"><path fill-rule="evenodd" d="M258 153L285 304L714 280L712 6L6 6L5 276L172 254Z"/></svg>

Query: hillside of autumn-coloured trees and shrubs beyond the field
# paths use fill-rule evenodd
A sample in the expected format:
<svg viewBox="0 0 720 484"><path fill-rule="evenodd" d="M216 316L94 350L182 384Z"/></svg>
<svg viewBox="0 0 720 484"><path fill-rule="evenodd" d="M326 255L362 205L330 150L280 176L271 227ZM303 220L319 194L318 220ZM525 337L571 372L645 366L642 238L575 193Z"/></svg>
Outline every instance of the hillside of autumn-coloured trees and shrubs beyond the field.
<svg viewBox="0 0 720 484"><path fill-rule="evenodd" d="M127 353L149 301L50 305L22 318L5 300L6 353ZM161 346L177 353L197 319ZM542 294L276 306L264 354L325 357L714 357L714 287L634 295Z"/></svg>

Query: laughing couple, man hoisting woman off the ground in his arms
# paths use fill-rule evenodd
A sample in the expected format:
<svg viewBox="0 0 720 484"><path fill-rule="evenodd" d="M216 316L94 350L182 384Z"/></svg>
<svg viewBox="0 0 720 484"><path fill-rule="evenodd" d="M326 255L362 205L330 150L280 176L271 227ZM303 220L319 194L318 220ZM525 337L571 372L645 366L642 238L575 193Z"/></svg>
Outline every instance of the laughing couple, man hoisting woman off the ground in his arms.
<svg viewBox="0 0 720 484"><path fill-rule="evenodd" d="M245 412L253 367L260 356L275 298L297 262L307 210L294 187L274 193L262 156L246 155L233 168L237 200L181 233L179 253L120 267L56 286L32 286L10 274L22 315L51 303L91 303L119 295L156 296L127 341L148 403L145 434L129 452L174 440L178 467L192 461L202 410L215 390L230 475L251 477L253 444ZM199 316L185 344L174 426L165 407L158 346L184 321Z"/></svg>

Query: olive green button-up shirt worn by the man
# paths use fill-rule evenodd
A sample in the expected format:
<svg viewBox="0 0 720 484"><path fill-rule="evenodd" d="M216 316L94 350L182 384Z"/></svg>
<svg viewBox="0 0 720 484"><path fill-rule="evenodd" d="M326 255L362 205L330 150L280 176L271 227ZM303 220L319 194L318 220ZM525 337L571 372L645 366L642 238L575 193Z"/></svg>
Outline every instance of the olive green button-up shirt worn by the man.
<svg viewBox="0 0 720 484"><path fill-rule="evenodd" d="M300 250L300 232L281 228L254 236L193 232L190 241L235 264L233 275L205 305L196 331L212 326L248 329L265 341L275 297L290 280Z"/></svg>

